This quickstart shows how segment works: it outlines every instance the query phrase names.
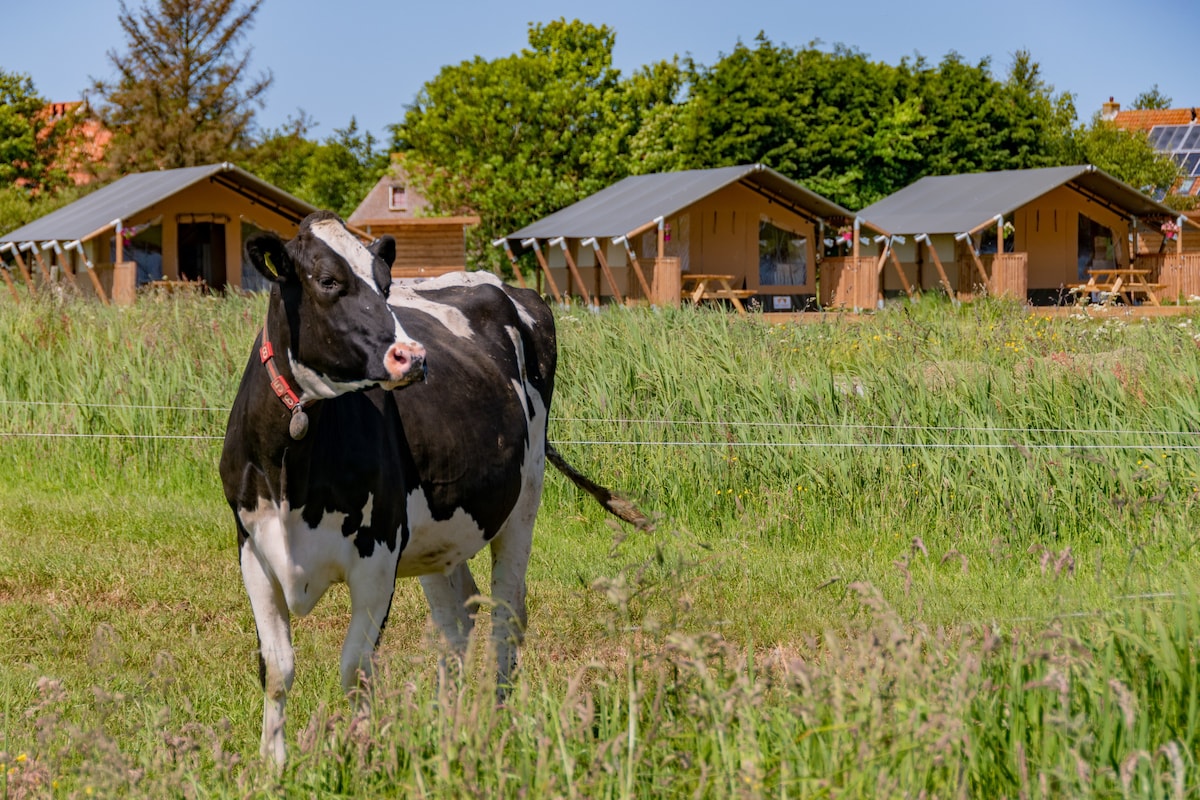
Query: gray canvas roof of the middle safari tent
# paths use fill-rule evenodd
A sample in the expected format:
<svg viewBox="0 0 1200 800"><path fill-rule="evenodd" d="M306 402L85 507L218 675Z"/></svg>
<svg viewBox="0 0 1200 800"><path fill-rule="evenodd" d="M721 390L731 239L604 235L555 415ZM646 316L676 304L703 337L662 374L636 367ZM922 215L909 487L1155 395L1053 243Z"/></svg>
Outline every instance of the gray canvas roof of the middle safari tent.
<svg viewBox="0 0 1200 800"><path fill-rule="evenodd" d="M805 216L853 217L854 213L762 164L634 175L574 205L526 225L505 239L610 239L668 217L709 194L740 181Z"/></svg>

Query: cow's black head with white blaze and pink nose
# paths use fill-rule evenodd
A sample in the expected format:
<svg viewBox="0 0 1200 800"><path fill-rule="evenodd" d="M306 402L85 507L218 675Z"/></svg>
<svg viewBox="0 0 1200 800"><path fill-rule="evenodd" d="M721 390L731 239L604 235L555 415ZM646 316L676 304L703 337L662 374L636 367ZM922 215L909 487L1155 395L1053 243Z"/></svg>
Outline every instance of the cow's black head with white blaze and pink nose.
<svg viewBox="0 0 1200 800"><path fill-rule="evenodd" d="M425 348L388 307L391 236L366 247L337 215L319 211L292 241L274 233L251 236L246 255L276 285L270 325L286 331L286 357L302 399L397 389L425 377Z"/></svg>

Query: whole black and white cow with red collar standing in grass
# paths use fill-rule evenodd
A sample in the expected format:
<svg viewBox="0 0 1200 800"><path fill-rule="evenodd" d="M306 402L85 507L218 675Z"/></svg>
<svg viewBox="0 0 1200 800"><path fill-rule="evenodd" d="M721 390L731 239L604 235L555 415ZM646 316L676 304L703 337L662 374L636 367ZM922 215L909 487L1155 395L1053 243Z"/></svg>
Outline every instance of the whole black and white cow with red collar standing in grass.
<svg viewBox="0 0 1200 800"><path fill-rule="evenodd" d="M524 634L546 458L613 513L646 519L546 441L557 344L535 293L488 273L394 287L395 242L365 247L328 212L288 242L251 237L246 254L274 285L221 479L258 630L262 752L282 763L290 615L310 613L332 583L349 585L341 674L352 691L371 674L398 577L420 577L461 657L478 594L467 559L491 547L505 686Z"/></svg>

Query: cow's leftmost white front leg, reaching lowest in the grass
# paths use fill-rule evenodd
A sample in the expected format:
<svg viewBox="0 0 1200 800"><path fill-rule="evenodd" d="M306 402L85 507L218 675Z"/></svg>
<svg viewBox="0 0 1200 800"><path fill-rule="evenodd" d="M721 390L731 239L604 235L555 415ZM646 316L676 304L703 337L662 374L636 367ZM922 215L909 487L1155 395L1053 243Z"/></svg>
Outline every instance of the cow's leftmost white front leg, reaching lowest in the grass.
<svg viewBox="0 0 1200 800"><path fill-rule="evenodd" d="M283 742L284 705L295 678L292 621L283 589L263 566L247 539L241 546L241 579L258 628L258 676L263 684L263 741L259 752L278 766L287 760Z"/></svg>

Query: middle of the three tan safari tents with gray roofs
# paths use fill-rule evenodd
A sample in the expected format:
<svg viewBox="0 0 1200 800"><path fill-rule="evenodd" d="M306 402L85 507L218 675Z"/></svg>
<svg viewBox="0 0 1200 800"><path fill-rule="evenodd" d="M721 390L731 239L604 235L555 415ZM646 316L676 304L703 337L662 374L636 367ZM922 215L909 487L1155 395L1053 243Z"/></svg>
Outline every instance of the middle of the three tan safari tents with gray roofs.
<svg viewBox="0 0 1200 800"><path fill-rule="evenodd" d="M560 302L755 299L793 311L862 305L858 261L876 265L856 258L863 233L853 212L749 164L626 178L497 245L514 259L533 251Z"/></svg>

